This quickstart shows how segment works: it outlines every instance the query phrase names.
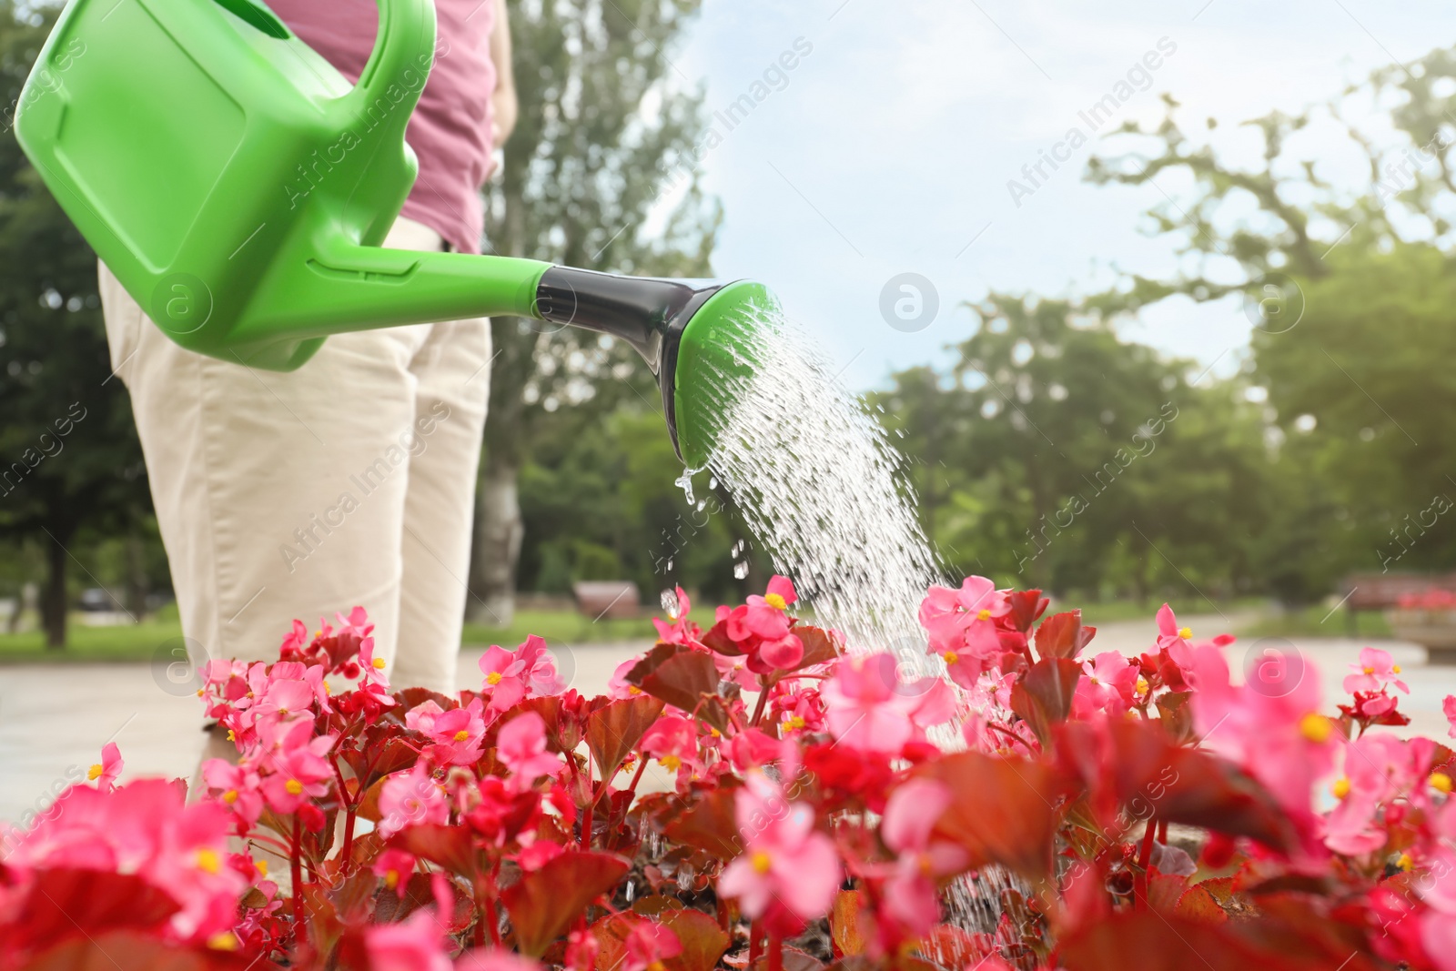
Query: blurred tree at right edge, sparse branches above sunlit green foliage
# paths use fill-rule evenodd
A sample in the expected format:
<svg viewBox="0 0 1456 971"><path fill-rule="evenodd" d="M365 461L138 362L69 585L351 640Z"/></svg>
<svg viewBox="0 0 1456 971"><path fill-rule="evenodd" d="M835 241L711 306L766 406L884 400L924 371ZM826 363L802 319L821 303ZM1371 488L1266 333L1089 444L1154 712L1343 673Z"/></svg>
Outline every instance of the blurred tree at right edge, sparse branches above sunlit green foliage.
<svg viewBox="0 0 1456 971"><path fill-rule="evenodd" d="M1376 71L1329 103L1246 122L1257 166L1236 165L1178 119L1112 135L1137 151L1089 163L1095 183L1142 185L1165 172L1192 198L1149 213L1182 240L1181 271L1130 277L1088 301L1104 316L1174 294L1242 294L1255 323L1248 381L1275 422L1281 514L1255 543L1286 598L1329 590L1340 572L1456 566L1456 405L1446 351L1456 345L1456 48ZM1351 105L1386 108L1396 140L1347 121ZM1300 132L1337 125L1367 178L1326 181ZM1217 122L1207 121L1214 131ZM1328 153L1328 150L1325 150ZM1293 483L1299 483L1294 486Z"/></svg>

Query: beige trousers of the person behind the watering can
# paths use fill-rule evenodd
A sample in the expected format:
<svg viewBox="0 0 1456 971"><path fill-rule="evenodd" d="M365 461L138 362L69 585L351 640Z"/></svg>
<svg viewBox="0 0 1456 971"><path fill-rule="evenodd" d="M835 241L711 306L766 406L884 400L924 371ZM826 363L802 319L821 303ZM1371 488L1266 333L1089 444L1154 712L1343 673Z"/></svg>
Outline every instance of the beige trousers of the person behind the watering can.
<svg viewBox="0 0 1456 971"><path fill-rule="evenodd" d="M441 239L402 218L386 245ZM396 687L453 693L489 322L344 333L278 374L183 351L99 277L194 655L271 661L294 617L363 606Z"/></svg>

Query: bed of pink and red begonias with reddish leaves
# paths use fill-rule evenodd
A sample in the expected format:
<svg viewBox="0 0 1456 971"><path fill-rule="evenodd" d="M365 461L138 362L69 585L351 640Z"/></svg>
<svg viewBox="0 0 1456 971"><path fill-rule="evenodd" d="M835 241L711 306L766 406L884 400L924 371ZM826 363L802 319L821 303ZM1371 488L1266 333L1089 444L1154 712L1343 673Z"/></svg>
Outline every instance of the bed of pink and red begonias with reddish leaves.
<svg viewBox="0 0 1456 971"><path fill-rule="evenodd" d="M920 609L951 687L794 600L702 630L678 591L591 699L537 638L446 697L387 684L361 610L296 623L204 670L239 758L198 801L108 745L0 833L0 968L1456 968L1453 753L1367 731L1405 724L1385 652L1326 715L1166 606L1125 658L968 578Z"/></svg>

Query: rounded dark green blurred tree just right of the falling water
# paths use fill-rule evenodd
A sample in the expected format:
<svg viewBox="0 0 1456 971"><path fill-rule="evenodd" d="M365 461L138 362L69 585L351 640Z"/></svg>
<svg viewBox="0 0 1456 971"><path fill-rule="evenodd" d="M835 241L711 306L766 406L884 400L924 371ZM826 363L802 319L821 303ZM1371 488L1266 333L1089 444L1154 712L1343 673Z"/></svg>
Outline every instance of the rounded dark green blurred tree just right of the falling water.
<svg viewBox="0 0 1456 971"><path fill-rule="evenodd" d="M946 374L882 396L926 531L962 572L1061 595L1251 585L1268 456L1235 383L1121 341L1067 301L993 294Z"/></svg>

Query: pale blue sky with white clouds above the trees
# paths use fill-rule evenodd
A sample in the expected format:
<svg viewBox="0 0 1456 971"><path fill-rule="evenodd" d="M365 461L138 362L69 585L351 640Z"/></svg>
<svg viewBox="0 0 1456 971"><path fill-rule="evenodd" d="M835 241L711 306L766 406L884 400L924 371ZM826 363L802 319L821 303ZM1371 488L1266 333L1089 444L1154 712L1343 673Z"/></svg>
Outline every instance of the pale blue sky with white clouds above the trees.
<svg viewBox="0 0 1456 971"><path fill-rule="evenodd" d="M1239 159L1255 143L1236 122L1450 44L1456 6L1431 0L706 0L670 57L727 118L699 163L725 210L715 272L767 282L868 389L946 362L973 326L964 303L992 290L1077 296L1178 266L1143 213L1190 198L1187 181L1082 179L1093 151L1121 151L1101 134L1162 116L1160 93L1200 130L1217 118L1210 138ZM729 118L745 93L760 100ZM1083 115L1108 95L1117 111L1093 130ZM1072 130L1088 143L1073 148ZM1300 144L1335 179L1358 172L1348 150L1332 125ZM1022 167L1053 151L1066 160L1031 182ZM920 280L900 290L901 274ZM1251 328L1238 300L1178 300L1123 332L1229 374Z"/></svg>

